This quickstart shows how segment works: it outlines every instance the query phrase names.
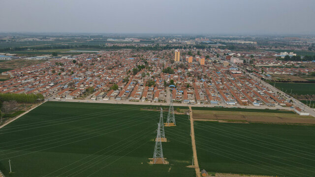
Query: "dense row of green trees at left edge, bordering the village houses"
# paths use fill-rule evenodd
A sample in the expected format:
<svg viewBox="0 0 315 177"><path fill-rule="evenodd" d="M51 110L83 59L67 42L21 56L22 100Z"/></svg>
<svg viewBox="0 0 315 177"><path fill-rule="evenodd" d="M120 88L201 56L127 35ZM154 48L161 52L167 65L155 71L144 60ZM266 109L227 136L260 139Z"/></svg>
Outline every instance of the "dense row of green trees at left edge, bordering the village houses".
<svg viewBox="0 0 315 177"><path fill-rule="evenodd" d="M0 93L0 101L17 101L18 103L36 103L44 100L42 94Z"/></svg>

